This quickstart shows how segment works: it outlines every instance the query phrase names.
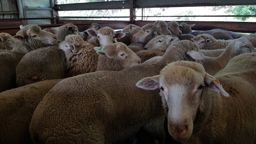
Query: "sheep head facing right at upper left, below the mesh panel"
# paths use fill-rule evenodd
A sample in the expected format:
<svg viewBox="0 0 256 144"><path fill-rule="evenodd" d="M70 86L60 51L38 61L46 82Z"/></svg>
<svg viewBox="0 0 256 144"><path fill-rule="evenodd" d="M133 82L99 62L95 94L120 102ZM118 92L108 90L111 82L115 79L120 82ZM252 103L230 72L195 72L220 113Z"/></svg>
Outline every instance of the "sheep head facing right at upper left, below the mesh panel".
<svg viewBox="0 0 256 144"><path fill-rule="evenodd" d="M40 41L43 45L54 44L58 40L54 34L41 30L41 28L37 25L24 26L13 37L18 40L32 38Z"/></svg>

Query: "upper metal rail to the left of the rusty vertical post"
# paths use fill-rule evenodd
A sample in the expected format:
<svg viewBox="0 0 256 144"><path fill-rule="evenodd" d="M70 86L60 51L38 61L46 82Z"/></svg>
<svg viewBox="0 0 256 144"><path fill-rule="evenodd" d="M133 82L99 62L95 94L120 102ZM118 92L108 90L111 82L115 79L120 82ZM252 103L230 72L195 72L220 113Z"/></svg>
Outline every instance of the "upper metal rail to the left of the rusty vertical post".
<svg viewBox="0 0 256 144"><path fill-rule="evenodd" d="M129 9L129 0L79 4L58 4L57 11Z"/></svg>

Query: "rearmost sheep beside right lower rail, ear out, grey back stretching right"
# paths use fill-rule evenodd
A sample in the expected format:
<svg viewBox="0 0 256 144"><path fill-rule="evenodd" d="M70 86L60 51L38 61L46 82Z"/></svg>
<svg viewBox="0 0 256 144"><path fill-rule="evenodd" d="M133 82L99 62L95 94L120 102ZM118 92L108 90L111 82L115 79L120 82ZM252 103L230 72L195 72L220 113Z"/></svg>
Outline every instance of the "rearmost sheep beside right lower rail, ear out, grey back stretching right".
<svg viewBox="0 0 256 144"><path fill-rule="evenodd" d="M182 30L184 31L183 34L192 34L194 36L197 36L199 34L210 34L216 39L224 39L224 40L233 39L233 37L230 36L226 31L218 31L218 30L192 31L191 27L193 27L194 25L195 24L188 25L186 23L182 23L180 24L180 29L181 31Z"/></svg>

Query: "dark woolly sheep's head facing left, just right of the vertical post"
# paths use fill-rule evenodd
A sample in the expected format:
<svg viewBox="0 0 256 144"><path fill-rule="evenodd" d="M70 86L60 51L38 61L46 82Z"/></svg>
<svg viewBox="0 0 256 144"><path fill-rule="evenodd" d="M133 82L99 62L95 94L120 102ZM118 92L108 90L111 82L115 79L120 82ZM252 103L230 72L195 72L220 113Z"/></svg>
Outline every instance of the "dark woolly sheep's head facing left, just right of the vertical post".
<svg viewBox="0 0 256 144"><path fill-rule="evenodd" d="M133 35L132 40L135 43L141 43L144 47L152 38L158 35L162 35L161 30L153 24L147 24L143 26L139 32Z"/></svg>

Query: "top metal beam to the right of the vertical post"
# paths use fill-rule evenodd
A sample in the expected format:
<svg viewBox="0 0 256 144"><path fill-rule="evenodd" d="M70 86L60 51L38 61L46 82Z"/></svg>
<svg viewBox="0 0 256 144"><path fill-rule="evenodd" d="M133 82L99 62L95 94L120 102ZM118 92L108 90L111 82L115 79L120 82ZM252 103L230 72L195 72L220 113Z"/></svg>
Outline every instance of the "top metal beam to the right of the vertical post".
<svg viewBox="0 0 256 144"><path fill-rule="evenodd" d="M135 0L135 8L150 7L188 7L188 6L221 6L221 5L254 5L255 0Z"/></svg>

